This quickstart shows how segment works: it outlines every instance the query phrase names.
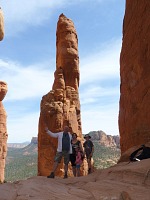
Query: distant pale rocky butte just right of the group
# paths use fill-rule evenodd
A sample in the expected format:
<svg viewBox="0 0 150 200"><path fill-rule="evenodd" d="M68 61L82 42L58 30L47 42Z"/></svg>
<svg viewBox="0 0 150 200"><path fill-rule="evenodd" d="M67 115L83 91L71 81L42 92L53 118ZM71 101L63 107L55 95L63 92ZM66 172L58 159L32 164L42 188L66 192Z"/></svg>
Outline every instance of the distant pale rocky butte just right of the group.
<svg viewBox="0 0 150 200"><path fill-rule="evenodd" d="M107 135L103 131L91 131L89 134L91 136L91 140L98 141L104 146L120 148L120 138L117 135Z"/></svg>

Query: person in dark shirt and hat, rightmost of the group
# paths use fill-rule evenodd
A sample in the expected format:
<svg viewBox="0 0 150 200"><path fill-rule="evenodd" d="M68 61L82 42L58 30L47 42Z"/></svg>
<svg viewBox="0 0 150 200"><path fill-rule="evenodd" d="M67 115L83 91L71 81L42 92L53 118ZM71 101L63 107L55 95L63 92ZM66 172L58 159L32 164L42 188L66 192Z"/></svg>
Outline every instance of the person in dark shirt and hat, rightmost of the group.
<svg viewBox="0 0 150 200"><path fill-rule="evenodd" d="M84 136L84 139L86 140L83 143L84 153L86 155L87 163L88 163L88 174L90 174L91 173L91 159L94 153L94 145L93 145L93 142L90 140L91 136L89 134L86 134Z"/></svg>

